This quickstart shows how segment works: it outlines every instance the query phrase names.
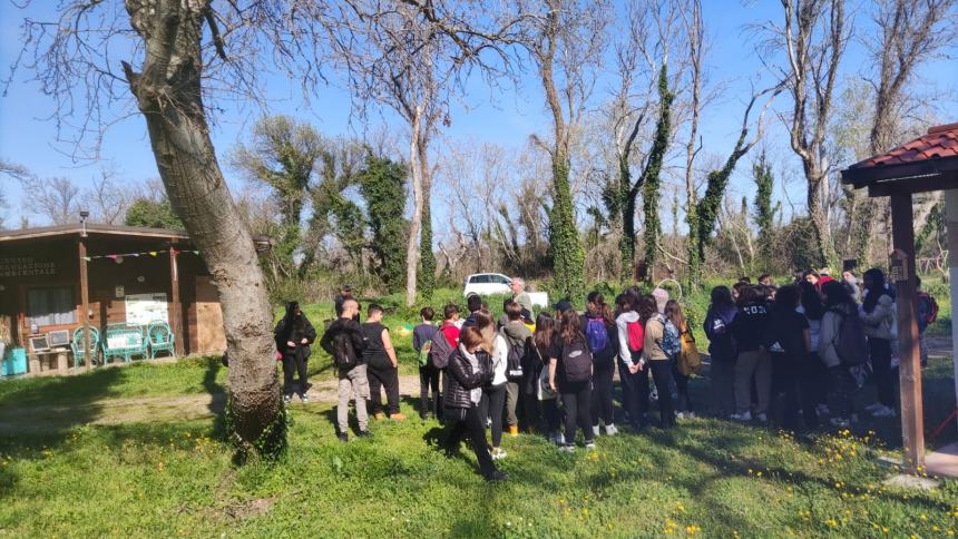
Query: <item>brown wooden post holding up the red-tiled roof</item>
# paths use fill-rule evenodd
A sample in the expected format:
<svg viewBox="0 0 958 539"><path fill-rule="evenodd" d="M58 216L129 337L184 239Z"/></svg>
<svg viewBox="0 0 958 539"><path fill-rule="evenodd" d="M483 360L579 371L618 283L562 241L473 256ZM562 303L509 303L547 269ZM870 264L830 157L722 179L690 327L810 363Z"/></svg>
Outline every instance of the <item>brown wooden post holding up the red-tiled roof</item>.
<svg viewBox="0 0 958 539"><path fill-rule="evenodd" d="M915 229L911 193L891 195L891 236L896 252L905 254L903 275L895 281L898 320L898 357L901 381L901 437L905 472L925 468L925 419L921 402L921 357L915 311Z"/></svg>

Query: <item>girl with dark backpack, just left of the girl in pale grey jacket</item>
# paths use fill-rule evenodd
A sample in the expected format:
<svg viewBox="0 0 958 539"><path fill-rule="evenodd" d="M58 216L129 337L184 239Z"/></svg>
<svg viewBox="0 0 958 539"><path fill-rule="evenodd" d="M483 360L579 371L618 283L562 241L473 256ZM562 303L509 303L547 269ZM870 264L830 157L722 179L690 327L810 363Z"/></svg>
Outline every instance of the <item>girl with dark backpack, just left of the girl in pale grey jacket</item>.
<svg viewBox="0 0 958 539"><path fill-rule="evenodd" d="M854 380L839 355L839 337L842 321L858 317L858 304L852 300L841 283L828 283L822 286L824 293L825 313L822 315L821 334L819 335L819 357L829 372L829 408L831 423L834 427L848 427L856 420L852 404ZM864 350L860 353L866 353Z"/></svg>

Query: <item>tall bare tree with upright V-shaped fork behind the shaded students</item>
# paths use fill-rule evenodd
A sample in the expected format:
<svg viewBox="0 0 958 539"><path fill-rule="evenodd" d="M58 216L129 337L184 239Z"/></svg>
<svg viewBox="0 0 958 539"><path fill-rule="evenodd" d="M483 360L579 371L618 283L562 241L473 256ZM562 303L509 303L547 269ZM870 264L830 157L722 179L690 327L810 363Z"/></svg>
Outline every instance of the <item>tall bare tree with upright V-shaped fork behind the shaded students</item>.
<svg viewBox="0 0 958 539"><path fill-rule="evenodd" d="M831 165L827 135L839 63L851 36L844 0L781 0L782 24L764 26L766 40L760 53L783 52L785 65L774 68L792 97L785 119L792 150L802 160L805 202L814 223L820 263L835 259L830 227L829 189ZM764 58L764 56L763 56Z"/></svg>

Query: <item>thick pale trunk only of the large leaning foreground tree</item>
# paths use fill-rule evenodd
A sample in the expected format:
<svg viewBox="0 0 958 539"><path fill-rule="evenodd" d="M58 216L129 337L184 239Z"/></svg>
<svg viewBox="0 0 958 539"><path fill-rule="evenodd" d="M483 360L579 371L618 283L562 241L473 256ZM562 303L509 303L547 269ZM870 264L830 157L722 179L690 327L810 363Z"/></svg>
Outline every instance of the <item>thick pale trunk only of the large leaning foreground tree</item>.
<svg viewBox="0 0 958 539"><path fill-rule="evenodd" d="M243 440L252 442L273 424L280 410L273 316L253 239L236 212L209 139L201 99L203 17L201 8L190 7L168 0L147 11L128 2L134 27L146 42L146 60L141 75L126 63L124 69L146 119L169 200L219 293L233 424Z"/></svg>

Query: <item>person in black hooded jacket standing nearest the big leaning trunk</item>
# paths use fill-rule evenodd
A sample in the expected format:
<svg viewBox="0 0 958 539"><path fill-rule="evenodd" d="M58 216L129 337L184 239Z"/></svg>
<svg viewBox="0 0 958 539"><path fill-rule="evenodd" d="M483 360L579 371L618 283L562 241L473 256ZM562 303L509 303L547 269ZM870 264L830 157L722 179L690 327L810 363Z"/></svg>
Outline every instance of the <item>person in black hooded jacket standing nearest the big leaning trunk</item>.
<svg viewBox="0 0 958 539"><path fill-rule="evenodd" d="M316 330L300 310L299 302L286 304L286 315L273 330L276 340L276 351L283 359L283 400L289 404L293 400L293 391L299 388L300 400L310 402L306 390L310 389L306 374L306 361L310 359L310 344L316 340ZM293 375L300 373L300 382L293 384Z"/></svg>

